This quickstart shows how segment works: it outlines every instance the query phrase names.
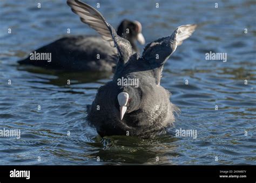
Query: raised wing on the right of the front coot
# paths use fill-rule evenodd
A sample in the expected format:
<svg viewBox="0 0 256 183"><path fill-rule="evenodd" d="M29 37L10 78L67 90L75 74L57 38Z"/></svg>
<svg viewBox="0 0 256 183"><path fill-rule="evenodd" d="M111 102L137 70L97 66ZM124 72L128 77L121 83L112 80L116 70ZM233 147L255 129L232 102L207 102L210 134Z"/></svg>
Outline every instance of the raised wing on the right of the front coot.
<svg viewBox="0 0 256 183"><path fill-rule="evenodd" d="M197 25L181 25L171 36L160 38L146 45L142 57L152 64L163 65L177 46L192 35Z"/></svg>

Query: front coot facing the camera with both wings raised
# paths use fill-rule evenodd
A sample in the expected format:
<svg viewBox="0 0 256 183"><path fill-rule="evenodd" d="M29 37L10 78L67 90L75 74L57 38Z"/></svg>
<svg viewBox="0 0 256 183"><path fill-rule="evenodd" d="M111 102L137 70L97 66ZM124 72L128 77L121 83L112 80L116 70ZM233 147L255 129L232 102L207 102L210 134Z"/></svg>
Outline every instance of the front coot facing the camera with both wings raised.
<svg viewBox="0 0 256 183"><path fill-rule="evenodd" d="M87 107L87 120L101 136L129 132L129 135L149 138L163 133L174 122L178 108L170 102L169 91L160 86L161 72L166 60L192 35L196 25L179 26L171 36L148 44L140 56L97 10L76 0L68 3L83 22L118 50L119 61L113 79L99 88L92 105ZM138 79L139 85L118 85L120 78Z"/></svg>

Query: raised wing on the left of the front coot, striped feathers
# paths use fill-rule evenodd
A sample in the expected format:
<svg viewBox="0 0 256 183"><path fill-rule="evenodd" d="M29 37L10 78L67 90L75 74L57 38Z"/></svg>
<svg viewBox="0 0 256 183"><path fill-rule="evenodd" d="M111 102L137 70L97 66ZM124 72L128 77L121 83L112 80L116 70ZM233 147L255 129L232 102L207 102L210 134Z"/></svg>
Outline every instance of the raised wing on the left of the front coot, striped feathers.
<svg viewBox="0 0 256 183"><path fill-rule="evenodd" d="M116 47L116 43L114 42L114 37L117 36L116 30L105 21L100 12L92 6L77 0L68 0L67 4L80 17L83 23L96 30L112 47Z"/></svg>

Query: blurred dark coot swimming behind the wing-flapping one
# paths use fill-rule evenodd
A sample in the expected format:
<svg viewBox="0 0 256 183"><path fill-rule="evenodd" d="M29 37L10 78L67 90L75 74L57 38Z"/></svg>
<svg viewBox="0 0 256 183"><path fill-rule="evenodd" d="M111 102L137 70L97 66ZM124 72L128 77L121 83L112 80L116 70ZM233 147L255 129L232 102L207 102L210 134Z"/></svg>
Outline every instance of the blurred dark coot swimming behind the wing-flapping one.
<svg viewBox="0 0 256 183"><path fill-rule="evenodd" d="M129 30L129 33L127 32ZM118 35L126 38L134 51L138 51L136 40L145 44L142 25L138 21L124 20L118 26ZM37 53L51 53L48 60L30 60L30 56L18 61L49 69L68 71L112 71L118 58L116 48L98 36L68 36L35 50ZM32 51L32 52L35 52ZM99 54L99 55L98 55ZM99 56L99 59L97 59Z"/></svg>

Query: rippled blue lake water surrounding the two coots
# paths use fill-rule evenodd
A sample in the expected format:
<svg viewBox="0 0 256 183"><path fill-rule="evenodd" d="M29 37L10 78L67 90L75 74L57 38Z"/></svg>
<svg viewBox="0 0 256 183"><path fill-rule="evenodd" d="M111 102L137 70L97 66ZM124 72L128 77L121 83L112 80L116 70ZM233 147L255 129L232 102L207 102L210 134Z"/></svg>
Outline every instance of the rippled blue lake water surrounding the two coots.
<svg viewBox="0 0 256 183"><path fill-rule="evenodd" d="M0 137L0 165L256 164L255 1L158 1L159 8L156 1L98 1L113 26L141 22L147 43L198 24L164 67L161 85L181 113L170 134L154 139L101 139L87 125L86 105L111 74L18 66L68 28L96 34L65 1L40 2L41 9L32 0L0 2L0 130L21 130L20 139ZM227 62L206 60L210 51L227 53ZM175 137L180 128L197 130L197 138Z"/></svg>

